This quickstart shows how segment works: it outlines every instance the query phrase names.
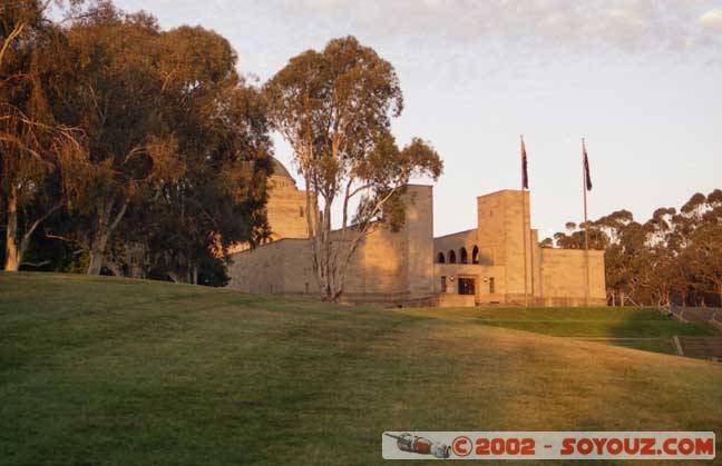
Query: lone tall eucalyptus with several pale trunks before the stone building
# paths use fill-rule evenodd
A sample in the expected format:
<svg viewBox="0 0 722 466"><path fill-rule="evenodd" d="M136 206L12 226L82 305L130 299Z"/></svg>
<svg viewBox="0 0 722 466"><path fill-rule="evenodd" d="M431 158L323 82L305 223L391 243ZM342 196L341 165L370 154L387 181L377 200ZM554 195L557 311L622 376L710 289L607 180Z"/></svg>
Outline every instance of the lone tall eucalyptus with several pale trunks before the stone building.
<svg viewBox="0 0 722 466"><path fill-rule="evenodd" d="M265 85L265 95L273 126L293 148L305 181L321 298L338 301L361 239L381 224L398 224L404 185L413 176L436 179L442 162L418 138L398 148L390 126L403 108L399 79L391 63L353 37L292 58ZM332 234L336 200L341 229Z"/></svg>

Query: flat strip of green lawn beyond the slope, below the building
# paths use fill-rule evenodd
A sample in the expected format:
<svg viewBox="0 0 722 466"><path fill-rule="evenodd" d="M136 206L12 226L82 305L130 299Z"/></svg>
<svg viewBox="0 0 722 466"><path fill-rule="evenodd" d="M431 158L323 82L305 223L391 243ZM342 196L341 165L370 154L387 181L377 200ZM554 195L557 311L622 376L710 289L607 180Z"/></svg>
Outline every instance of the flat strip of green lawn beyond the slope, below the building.
<svg viewBox="0 0 722 466"><path fill-rule="evenodd" d="M413 309L413 315L674 354L672 336L718 336L706 323L681 323L643 308Z"/></svg>

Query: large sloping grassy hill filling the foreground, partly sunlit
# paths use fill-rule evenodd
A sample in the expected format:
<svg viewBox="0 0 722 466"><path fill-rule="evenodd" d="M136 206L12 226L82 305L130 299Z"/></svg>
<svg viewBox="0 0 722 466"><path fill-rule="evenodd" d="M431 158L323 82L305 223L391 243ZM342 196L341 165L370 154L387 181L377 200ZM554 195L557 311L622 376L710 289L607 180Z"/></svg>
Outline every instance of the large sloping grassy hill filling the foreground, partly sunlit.
<svg viewBox="0 0 722 466"><path fill-rule="evenodd" d="M0 274L0 463L368 465L383 430L722 430L722 365L500 327L708 328L494 313Z"/></svg>

